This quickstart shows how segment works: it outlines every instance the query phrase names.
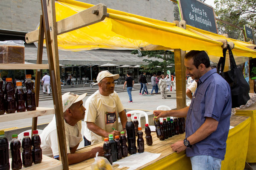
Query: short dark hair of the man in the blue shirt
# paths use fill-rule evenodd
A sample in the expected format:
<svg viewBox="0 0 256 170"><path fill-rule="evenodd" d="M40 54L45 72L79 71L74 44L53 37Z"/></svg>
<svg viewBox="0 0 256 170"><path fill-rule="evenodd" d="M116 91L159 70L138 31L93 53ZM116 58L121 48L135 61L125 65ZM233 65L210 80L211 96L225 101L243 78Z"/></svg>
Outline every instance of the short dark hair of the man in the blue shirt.
<svg viewBox="0 0 256 170"><path fill-rule="evenodd" d="M193 65L196 66L197 69L200 64L204 64L206 68L211 66L209 56L205 51L191 50L185 55L185 59L188 58L193 58Z"/></svg>

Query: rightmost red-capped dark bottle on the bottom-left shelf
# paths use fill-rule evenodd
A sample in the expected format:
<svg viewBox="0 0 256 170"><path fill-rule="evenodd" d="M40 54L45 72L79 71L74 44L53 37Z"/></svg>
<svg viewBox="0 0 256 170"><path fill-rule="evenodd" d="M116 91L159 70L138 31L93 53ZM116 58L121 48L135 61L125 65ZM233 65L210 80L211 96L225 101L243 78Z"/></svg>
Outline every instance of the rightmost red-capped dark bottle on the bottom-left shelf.
<svg viewBox="0 0 256 170"><path fill-rule="evenodd" d="M40 147L41 139L38 135L38 130L33 130L32 136L32 159L34 164L40 164L42 161L42 149Z"/></svg>

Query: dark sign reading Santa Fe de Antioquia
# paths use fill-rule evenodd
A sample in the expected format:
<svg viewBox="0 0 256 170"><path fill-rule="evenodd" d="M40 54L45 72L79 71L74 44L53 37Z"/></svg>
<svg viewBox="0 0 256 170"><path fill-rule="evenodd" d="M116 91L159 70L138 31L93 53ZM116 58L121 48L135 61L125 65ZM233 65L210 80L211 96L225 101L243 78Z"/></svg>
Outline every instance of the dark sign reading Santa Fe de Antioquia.
<svg viewBox="0 0 256 170"><path fill-rule="evenodd" d="M213 8L200 0L179 0L179 13L188 25L218 34Z"/></svg>

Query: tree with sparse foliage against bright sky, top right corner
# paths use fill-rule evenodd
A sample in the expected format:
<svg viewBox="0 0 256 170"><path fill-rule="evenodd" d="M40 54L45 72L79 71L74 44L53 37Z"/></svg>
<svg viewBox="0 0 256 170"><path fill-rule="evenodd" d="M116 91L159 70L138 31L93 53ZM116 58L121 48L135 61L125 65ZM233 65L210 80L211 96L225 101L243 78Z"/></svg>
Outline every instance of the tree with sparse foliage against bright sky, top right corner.
<svg viewBox="0 0 256 170"><path fill-rule="evenodd" d="M256 39L256 0L215 0L215 14L221 20L244 28L244 25L253 29L253 38ZM244 40L241 30L233 26L217 21L220 34L228 34L229 37ZM247 40L248 41L248 40Z"/></svg>

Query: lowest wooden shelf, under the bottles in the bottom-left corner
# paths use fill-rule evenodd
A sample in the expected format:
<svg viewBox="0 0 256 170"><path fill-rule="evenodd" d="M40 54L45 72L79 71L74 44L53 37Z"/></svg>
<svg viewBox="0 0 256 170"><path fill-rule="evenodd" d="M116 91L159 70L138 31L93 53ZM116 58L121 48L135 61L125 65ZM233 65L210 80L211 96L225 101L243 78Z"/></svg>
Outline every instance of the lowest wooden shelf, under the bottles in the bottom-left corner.
<svg viewBox="0 0 256 170"><path fill-rule="evenodd" d="M12 166L12 158L9 158L10 169ZM40 164L32 164L31 167L23 167L21 170L62 170L62 162L49 156L43 155L42 162Z"/></svg>

